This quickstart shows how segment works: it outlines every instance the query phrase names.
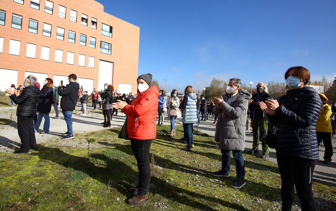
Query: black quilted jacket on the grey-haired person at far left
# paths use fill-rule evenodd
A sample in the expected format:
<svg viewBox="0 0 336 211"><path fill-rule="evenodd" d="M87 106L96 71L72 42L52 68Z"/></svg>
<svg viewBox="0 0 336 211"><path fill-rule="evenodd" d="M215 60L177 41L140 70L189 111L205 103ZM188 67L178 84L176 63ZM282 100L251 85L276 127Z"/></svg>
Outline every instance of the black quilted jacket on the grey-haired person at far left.
<svg viewBox="0 0 336 211"><path fill-rule="evenodd" d="M37 86L27 86L22 93L16 97L12 94L10 98L18 104L16 116L35 116L37 112L37 101L40 97L40 89Z"/></svg>

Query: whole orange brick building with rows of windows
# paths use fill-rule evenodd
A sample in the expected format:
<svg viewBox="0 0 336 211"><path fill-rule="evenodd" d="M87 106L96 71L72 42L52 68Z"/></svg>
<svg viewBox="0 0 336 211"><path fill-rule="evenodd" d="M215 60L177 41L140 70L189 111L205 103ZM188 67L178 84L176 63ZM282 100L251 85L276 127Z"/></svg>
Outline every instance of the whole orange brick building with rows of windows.
<svg viewBox="0 0 336 211"><path fill-rule="evenodd" d="M0 0L0 89L74 73L89 94L104 83L136 93L139 31L93 0Z"/></svg>

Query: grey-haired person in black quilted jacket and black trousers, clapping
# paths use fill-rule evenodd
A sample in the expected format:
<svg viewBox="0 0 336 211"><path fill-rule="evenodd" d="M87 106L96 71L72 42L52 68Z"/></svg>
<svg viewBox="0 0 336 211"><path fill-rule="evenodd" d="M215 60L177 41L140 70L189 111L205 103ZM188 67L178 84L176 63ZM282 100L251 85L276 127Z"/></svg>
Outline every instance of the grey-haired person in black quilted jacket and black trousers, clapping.
<svg viewBox="0 0 336 211"><path fill-rule="evenodd" d="M21 140L21 146L14 153L28 153L29 149L36 149L33 120L37 112L37 101L40 96L40 89L36 86L37 78L28 76L25 78L22 93L18 90L6 89L10 99L18 104L16 109L17 133Z"/></svg>

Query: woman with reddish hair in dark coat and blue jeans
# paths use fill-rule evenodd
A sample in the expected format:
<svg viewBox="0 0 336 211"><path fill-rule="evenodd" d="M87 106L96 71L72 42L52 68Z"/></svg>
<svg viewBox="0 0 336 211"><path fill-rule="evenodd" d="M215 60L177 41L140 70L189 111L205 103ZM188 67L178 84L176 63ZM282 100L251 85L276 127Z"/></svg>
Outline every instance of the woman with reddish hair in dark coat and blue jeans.
<svg viewBox="0 0 336 211"><path fill-rule="evenodd" d="M43 131L41 131L41 134L49 133L49 127L50 127L50 118L49 113L51 111L51 104L54 94L54 82L51 78L46 78L43 81L43 87L40 92L40 98L37 102L37 111L39 112L37 116L37 121L34 125L35 133L38 132L38 129L40 127L40 124L42 122L42 117L44 118L44 125L43 125Z"/></svg>

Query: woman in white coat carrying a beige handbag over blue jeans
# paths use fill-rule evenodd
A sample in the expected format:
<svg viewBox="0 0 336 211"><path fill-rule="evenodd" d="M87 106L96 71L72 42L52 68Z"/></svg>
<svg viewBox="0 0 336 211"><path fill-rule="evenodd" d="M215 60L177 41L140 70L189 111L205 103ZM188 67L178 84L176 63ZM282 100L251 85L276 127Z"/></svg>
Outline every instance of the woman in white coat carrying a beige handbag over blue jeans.
<svg viewBox="0 0 336 211"><path fill-rule="evenodd" d="M170 119L169 136L172 137L173 135L175 135L175 119L182 116L180 110L178 109L178 107L180 106L180 99L178 99L178 92L176 89L171 91L170 97L168 98L166 105L168 108L168 119Z"/></svg>

